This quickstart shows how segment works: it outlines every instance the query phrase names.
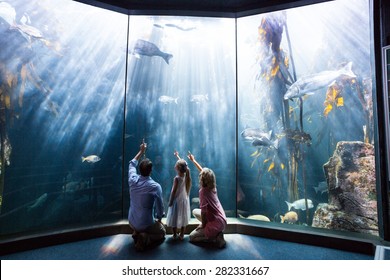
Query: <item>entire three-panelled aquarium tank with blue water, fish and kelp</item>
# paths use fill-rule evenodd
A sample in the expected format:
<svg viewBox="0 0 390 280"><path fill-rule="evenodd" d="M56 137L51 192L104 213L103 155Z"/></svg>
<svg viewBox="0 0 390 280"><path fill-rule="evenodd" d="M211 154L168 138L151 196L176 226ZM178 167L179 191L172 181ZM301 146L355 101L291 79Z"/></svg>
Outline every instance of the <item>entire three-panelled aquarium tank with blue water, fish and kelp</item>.
<svg viewBox="0 0 390 280"><path fill-rule="evenodd" d="M166 208L191 152L230 218L378 235L371 4L234 19L1 1L1 238L125 220L142 141Z"/></svg>

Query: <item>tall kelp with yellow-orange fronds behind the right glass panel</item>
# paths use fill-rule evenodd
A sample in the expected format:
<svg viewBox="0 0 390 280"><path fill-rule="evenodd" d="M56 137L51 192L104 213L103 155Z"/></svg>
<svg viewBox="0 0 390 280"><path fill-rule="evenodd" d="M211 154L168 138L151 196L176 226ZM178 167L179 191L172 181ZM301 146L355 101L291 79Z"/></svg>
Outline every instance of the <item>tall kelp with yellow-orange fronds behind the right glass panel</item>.
<svg viewBox="0 0 390 280"><path fill-rule="evenodd" d="M281 49L280 43L286 37L289 46L288 53ZM296 81L296 73L294 66L294 59L292 56L291 42L288 34L287 16L285 12L272 13L262 18L258 27L258 41L259 41L259 73L258 79L263 81L264 85L268 85L268 96L266 102L269 107L273 108L273 114L268 114L266 123L268 128L275 124L276 120L281 120L283 127L279 134L280 138L284 138L286 145L280 147L275 151L275 156L271 159L266 158L263 162L263 168L268 173L274 174L278 177L278 185L281 187L281 171L287 172L288 181L288 197L294 201L299 197L298 190L298 170L300 163L303 161L303 148L301 144L311 144L311 136L303 130L303 102L298 104L299 114L295 113L293 107L289 106L289 101L284 100L283 96L287 91L288 86ZM292 72L292 73L291 73ZM291 123L293 120L293 123ZM299 129L291 129L296 127ZM288 153L288 164L280 161L278 154ZM252 154L255 157L254 161L259 158L258 153ZM254 164L252 162L252 166ZM303 164L301 165L303 166ZM304 170L303 170L303 176ZM306 184L305 178L302 180Z"/></svg>

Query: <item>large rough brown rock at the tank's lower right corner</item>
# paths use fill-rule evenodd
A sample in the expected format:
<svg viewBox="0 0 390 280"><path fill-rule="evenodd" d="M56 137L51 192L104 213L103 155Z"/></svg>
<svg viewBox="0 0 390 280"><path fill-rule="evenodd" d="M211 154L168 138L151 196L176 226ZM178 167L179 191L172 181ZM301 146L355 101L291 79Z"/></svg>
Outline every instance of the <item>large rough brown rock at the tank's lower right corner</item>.
<svg viewBox="0 0 390 280"><path fill-rule="evenodd" d="M378 235L374 146L337 143L324 172L328 204L317 206L312 226Z"/></svg>

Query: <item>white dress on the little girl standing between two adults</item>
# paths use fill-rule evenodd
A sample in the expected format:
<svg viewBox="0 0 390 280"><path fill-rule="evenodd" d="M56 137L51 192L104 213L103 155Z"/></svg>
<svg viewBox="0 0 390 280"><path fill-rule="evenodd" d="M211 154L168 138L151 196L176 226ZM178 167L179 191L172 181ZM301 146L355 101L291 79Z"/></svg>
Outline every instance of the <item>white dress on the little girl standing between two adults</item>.
<svg viewBox="0 0 390 280"><path fill-rule="evenodd" d="M167 226L181 228L188 225L191 215L189 196L186 191L185 175L178 178L177 190L173 204L168 208Z"/></svg>

